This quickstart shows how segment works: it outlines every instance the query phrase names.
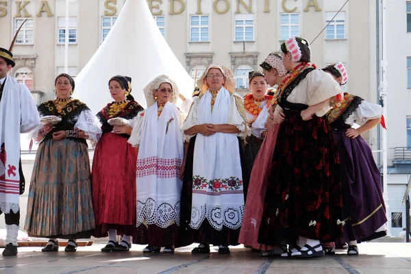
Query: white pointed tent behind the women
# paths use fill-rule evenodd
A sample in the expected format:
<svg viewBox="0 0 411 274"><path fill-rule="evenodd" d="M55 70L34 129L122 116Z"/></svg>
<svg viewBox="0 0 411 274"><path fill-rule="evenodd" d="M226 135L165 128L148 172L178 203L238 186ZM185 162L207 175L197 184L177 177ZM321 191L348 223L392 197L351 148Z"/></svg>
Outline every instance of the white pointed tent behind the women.
<svg viewBox="0 0 411 274"><path fill-rule="evenodd" d="M162 36L145 0L128 0L99 49L75 79L75 98L93 113L113 101L108 80L132 77L132 95L144 108L144 88L158 75L169 75L184 97L191 97L194 82ZM179 100L181 103L181 100Z"/></svg>

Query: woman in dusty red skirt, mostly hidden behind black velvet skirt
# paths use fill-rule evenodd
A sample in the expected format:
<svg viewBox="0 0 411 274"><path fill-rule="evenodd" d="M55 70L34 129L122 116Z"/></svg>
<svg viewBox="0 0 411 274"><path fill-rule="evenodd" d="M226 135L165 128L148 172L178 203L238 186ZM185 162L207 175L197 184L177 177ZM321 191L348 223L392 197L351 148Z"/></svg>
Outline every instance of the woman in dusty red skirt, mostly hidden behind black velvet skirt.
<svg viewBox="0 0 411 274"><path fill-rule="evenodd" d="M271 100L271 105L269 105L269 111L272 114L277 105L278 92L283 88L287 79L287 71L284 68L281 56L276 53L270 53L260 66L264 71L266 82L270 86L277 86L275 96ZM269 118L269 120L271 119ZM274 256L275 254L284 253L284 249L286 249L284 242L279 242L279 246L275 248L271 245L261 245L258 243L258 229L260 228L266 186L271 171L271 160L279 128L279 124L271 125L270 122L267 123L269 131L262 141L260 151L258 151L251 171L244 218L242 219L238 242L251 247L252 250L265 251L263 256Z"/></svg>

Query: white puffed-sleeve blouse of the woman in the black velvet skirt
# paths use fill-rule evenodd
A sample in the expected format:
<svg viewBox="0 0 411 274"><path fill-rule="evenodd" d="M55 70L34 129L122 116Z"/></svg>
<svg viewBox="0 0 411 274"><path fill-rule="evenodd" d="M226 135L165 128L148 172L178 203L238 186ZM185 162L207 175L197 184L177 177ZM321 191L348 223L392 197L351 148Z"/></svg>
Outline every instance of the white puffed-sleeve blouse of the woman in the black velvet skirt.
<svg viewBox="0 0 411 274"><path fill-rule="evenodd" d="M296 86L287 97L287 101L290 103L303 103L311 106L342 93L343 91L340 89L340 86L331 75L316 69L308 73L306 78L299 82L298 86ZM330 108L331 107L327 103L315 114L319 117L324 116ZM283 110L277 105L275 111Z"/></svg>

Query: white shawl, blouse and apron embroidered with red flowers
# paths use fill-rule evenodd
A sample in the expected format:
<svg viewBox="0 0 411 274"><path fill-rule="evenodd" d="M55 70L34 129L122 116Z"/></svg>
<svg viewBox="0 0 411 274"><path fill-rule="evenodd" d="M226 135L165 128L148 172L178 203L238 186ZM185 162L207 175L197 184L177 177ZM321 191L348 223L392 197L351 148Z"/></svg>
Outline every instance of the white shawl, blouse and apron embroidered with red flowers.
<svg viewBox="0 0 411 274"><path fill-rule="evenodd" d="M182 130L206 123L235 125L240 133L217 132L211 136L197 134L192 170L192 208L190 227L198 229L205 219L216 230L223 226L238 229L244 213L244 194L238 136L247 125L238 112L236 97L225 88L216 95L208 90L196 97ZM240 100L241 103L242 100ZM191 136L186 136L188 140Z"/></svg>

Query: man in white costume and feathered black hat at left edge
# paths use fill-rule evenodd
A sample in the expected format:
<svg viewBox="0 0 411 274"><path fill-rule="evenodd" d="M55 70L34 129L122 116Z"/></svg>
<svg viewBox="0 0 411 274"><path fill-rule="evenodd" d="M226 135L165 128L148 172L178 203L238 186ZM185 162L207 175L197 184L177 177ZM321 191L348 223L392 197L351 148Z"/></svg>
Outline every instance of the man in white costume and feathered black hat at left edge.
<svg viewBox="0 0 411 274"><path fill-rule="evenodd" d="M4 213L7 232L3 256L17 255L18 195L23 194L25 182L20 161L20 134L30 132L40 123L29 89L8 76L16 65L11 52L16 36L9 50L0 47L0 214Z"/></svg>

